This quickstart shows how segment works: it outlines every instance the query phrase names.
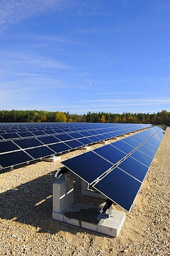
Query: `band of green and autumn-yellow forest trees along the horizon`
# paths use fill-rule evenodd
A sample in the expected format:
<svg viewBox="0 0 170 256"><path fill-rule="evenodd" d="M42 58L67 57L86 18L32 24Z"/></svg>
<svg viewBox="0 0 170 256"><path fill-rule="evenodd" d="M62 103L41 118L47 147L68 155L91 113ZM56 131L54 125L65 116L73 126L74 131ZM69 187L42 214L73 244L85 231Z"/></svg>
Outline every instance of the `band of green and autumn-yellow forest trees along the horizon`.
<svg viewBox="0 0 170 256"><path fill-rule="evenodd" d="M0 122L87 122L87 123L138 123L165 124L170 126L170 112L162 110L154 114L88 112L78 115L61 111L45 110L0 110Z"/></svg>

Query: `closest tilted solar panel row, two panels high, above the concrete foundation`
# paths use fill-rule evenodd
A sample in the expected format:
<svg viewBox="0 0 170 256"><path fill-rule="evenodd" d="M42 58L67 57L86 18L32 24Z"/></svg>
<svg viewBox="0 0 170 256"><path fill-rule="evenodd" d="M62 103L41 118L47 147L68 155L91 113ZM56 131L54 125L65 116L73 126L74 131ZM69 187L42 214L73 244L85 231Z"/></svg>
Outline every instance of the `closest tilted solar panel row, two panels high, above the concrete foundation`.
<svg viewBox="0 0 170 256"><path fill-rule="evenodd" d="M95 189L130 211L164 130L158 126L67 159L62 164Z"/></svg>

